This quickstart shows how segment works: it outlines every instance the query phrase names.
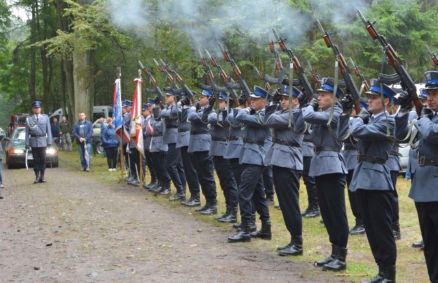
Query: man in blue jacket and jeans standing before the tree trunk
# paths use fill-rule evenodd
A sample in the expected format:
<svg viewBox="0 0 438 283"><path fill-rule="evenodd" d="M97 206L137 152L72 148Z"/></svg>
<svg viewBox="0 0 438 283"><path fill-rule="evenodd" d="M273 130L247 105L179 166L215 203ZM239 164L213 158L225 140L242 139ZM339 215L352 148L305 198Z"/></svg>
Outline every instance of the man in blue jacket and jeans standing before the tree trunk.
<svg viewBox="0 0 438 283"><path fill-rule="evenodd" d="M79 148L79 158L81 159L81 167L79 170L90 172L93 125L90 121L85 120L85 118L85 113L79 113L79 121L77 121L73 128L73 136L76 138L77 147ZM87 150L87 152L85 152L85 150Z"/></svg>

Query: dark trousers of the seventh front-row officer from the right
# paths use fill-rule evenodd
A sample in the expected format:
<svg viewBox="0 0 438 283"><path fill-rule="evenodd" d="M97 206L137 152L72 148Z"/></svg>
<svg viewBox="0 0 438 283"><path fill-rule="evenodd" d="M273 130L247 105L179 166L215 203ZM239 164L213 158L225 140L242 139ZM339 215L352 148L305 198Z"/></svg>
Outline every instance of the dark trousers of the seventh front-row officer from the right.
<svg viewBox="0 0 438 283"><path fill-rule="evenodd" d="M213 157L206 151L193 152L194 167L205 200L216 200L216 182L214 181Z"/></svg>

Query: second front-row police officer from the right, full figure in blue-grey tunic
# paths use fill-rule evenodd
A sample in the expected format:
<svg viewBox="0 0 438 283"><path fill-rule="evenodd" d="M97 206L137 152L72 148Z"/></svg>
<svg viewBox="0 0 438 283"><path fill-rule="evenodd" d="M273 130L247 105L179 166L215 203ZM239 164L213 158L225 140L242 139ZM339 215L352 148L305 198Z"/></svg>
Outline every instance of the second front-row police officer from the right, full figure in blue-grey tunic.
<svg viewBox="0 0 438 283"><path fill-rule="evenodd" d="M396 92L372 79L365 94L368 110L362 108L350 120L350 113L344 109L339 129L350 127L352 137L359 139L358 163L348 189L357 192L363 226L378 265L378 275L368 282L390 283L396 282L397 248L392 232L394 187L386 162L394 146L387 137L387 129L394 131L394 118L385 110Z"/></svg>

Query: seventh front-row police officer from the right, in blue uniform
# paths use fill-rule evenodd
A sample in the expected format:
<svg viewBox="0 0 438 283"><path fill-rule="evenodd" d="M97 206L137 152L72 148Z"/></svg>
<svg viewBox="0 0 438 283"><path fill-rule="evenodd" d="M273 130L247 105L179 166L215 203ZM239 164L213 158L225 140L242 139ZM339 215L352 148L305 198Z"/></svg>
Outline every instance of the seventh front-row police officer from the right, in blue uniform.
<svg viewBox="0 0 438 283"><path fill-rule="evenodd" d="M208 129L208 120L202 120L205 107L209 105L211 92L203 90L199 102L188 109L188 120L190 121L190 142L188 152L193 154L194 167L198 174L199 185L205 196L205 206L195 211L201 214L217 214L217 192L214 180L213 157L209 154L211 136ZM199 193L196 194L196 203L200 202Z"/></svg>

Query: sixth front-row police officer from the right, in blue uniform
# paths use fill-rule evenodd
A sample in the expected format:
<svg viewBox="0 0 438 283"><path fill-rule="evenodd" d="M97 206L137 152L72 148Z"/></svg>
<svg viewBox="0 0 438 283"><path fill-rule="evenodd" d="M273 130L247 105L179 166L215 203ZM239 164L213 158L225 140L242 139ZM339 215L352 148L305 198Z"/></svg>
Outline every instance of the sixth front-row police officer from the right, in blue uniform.
<svg viewBox="0 0 438 283"><path fill-rule="evenodd" d="M210 96L209 99L214 100L214 96ZM233 100L230 100L230 103L233 103ZM209 154L213 157L214 168L216 169L216 174L218 174L220 187L224 193L225 204L227 206L227 211L217 219L220 222L234 223L237 221L239 192L230 160L224 158L224 154L227 151L230 126L229 121L226 119L228 116L226 92L220 92L219 101L216 101L216 104L216 107L219 108L218 113L211 113L213 106L210 106L210 104L203 113L203 120L207 115L211 135Z"/></svg>

